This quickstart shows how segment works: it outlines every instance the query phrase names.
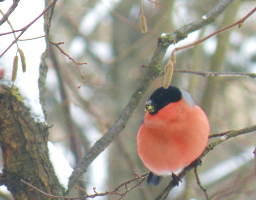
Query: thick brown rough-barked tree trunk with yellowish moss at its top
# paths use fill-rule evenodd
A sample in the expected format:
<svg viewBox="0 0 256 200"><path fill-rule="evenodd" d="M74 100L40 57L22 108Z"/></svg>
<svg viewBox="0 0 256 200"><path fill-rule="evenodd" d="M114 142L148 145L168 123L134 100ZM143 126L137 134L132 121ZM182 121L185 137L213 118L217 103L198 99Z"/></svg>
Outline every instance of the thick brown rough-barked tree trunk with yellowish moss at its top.
<svg viewBox="0 0 256 200"><path fill-rule="evenodd" d="M21 179L46 193L63 195L64 188L49 160L47 141L48 128L34 121L18 89L0 85L0 183L7 186L15 199L46 199Z"/></svg>

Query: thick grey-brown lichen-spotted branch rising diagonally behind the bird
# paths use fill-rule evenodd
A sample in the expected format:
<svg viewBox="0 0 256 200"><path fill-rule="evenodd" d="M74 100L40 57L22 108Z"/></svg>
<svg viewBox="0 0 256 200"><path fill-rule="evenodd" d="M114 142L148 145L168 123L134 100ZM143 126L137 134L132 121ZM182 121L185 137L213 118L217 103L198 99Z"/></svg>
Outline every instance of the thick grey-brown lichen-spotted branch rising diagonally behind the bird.
<svg viewBox="0 0 256 200"><path fill-rule="evenodd" d="M167 48L173 44L187 37L187 35L193 31L196 31L207 24L212 23L216 17L218 17L225 9L233 2L233 0L222 0L214 9L212 9L206 16L207 19L199 19L188 25L181 27L171 34L159 38L158 46L154 52L154 55L150 61L149 67L147 68L146 75L142 78L139 87L133 93L127 106L118 117L117 121L113 126L106 132L101 139L99 139L87 152L86 156L82 158L78 165L75 166L73 173L69 178L69 190L74 187L79 177L87 171L88 166L94 159L114 140L114 138L124 129L129 118L131 117L135 107L138 105L146 93L148 86L158 77L161 72L159 66L162 63L163 57L166 53ZM67 191L67 193L69 192Z"/></svg>

